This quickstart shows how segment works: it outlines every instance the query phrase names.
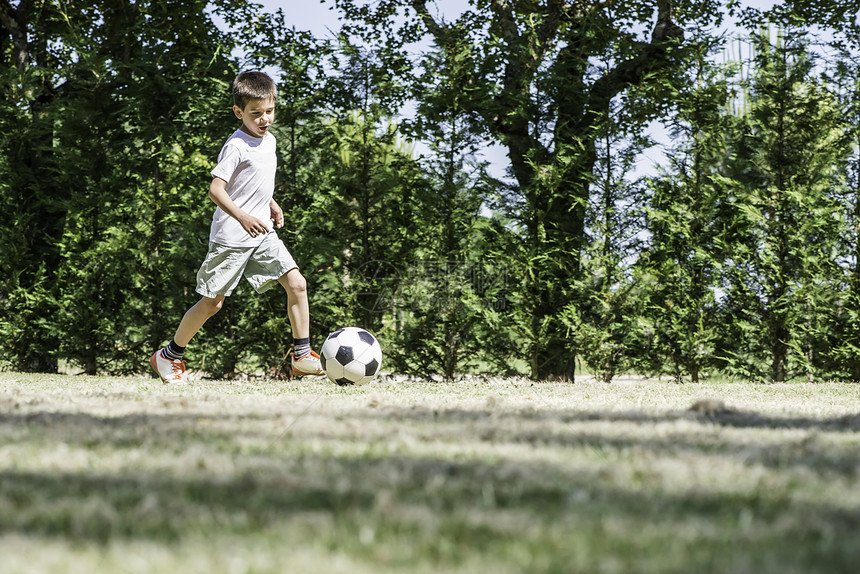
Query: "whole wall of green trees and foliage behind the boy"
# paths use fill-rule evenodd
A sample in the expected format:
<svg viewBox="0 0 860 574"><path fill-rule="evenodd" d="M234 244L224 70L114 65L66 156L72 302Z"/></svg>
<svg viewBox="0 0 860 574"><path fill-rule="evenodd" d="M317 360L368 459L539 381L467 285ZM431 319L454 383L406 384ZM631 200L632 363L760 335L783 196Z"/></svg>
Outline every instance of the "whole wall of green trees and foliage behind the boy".
<svg viewBox="0 0 860 574"><path fill-rule="evenodd" d="M3 367L146 368L197 298L227 88L254 67L279 82L315 346L358 324L444 380L860 380L856 34L822 62L798 29L844 3L775 7L788 32L730 66L712 2L336 5L321 40L244 1L0 2ZM631 182L655 119L675 141ZM283 291L243 285L187 356L283 376L290 340Z"/></svg>

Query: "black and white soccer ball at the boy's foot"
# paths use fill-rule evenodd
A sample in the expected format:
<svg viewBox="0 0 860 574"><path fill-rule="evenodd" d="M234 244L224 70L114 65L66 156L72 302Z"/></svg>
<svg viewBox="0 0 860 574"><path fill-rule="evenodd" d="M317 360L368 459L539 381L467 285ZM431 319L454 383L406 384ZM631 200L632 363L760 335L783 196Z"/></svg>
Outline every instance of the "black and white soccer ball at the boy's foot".
<svg viewBox="0 0 860 574"><path fill-rule="evenodd" d="M325 340L320 362L326 376L338 385L366 385L379 373L382 347L368 331L344 327Z"/></svg>

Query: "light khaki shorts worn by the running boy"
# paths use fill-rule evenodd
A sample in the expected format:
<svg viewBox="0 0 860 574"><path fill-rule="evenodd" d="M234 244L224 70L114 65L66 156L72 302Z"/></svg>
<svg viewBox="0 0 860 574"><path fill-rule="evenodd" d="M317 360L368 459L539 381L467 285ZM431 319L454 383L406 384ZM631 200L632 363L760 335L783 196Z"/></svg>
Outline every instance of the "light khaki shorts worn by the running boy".
<svg viewBox="0 0 860 574"><path fill-rule="evenodd" d="M230 295L242 277L263 293L277 284L287 271L295 269L295 259L275 233L269 233L257 247L227 247L209 243L209 252L197 271L197 292L204 297Z"/></svg>

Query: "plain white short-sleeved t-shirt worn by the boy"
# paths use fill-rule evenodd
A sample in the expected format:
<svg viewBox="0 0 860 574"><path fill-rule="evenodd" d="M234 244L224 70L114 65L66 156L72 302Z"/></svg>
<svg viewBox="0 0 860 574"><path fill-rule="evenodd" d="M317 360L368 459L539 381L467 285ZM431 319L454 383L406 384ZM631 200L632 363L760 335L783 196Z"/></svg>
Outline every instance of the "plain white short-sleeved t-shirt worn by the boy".
<svg viewBox="0 0 860 574"><path fill-rule="evenodd" d="M243 211L271 225L269 203L275 193L275 136L267 133L261 138L241 129L233 132L221 153L212 176L227 182L227 195ZM265 236L251 237L239 222L220 207L212 216L209 241L228 247L255 247Z"/></svg>

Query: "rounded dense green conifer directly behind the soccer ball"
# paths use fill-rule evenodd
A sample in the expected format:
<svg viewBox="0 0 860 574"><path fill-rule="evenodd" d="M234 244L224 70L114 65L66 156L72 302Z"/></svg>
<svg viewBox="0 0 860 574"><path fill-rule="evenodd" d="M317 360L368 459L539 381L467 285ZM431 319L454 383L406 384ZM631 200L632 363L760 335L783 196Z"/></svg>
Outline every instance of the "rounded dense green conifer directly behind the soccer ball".
<svg viewBox="0 0 860 574"><path fill-rule="evenodd" d="M322 335L357 324L396 352L400 281L424 234L423 175L396 126L362 111L329 120L317 143L315 194L299 228L312 317Z"/></svg>

